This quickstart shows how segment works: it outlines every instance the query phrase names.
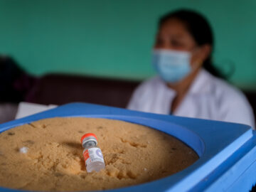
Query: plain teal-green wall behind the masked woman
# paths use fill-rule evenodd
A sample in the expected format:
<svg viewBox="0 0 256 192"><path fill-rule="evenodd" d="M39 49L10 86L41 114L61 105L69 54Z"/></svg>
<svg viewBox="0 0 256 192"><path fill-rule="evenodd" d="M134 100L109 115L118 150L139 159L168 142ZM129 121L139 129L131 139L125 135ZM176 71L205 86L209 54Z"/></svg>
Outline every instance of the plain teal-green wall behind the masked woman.
<svg viewBox="0 0 256 192"><path fill-rule="evenodd" d="M29 73L145 79L156 22L178 8L201 11L215 33L214 60L230 81L256 90L256 1L0 0L0 53Z"/></svg>

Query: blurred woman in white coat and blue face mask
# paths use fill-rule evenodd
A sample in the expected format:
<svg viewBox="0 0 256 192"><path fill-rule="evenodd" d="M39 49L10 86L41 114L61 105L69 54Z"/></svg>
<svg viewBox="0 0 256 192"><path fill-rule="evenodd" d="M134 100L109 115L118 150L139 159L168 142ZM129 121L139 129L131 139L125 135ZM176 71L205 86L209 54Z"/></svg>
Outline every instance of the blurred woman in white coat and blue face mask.
<svg viewBox="0 0 256 192"><path fill-rule="evenodd" d="M248 124L255 128L245 95L213 67L213 33L206 18L179 10L163 16L153 49L158 76L142 82L129 110Z"/></svg>

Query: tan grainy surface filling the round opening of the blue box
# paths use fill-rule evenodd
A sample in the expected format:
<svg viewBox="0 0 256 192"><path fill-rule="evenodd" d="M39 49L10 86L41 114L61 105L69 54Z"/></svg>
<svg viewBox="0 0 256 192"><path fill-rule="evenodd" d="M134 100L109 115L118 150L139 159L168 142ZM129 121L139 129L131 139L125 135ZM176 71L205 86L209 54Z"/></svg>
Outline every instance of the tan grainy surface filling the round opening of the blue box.
<svg viewBox="0 0 256 192"><path fill-rule="evenodd" d="M80 137L97 135L106 169L88 174ZM20 149L26 147L26 153ZM198 159L168 134L139 124L85 117L42 119L0 134L0 186L86 191L133 186L185 169Z"/></svg>

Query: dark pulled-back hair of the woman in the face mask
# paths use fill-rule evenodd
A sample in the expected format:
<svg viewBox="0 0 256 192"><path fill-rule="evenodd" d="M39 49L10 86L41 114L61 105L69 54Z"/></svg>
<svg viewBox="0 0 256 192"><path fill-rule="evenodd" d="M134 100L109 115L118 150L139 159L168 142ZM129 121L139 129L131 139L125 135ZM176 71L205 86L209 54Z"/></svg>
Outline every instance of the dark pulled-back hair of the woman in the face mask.
<svg viewBox="0 0 256 192"><path fill-rule="evenodd" d="M198 14L196 11L191 11L187 9L181 9L174 12L172 11L160 18L159 28L170 18L177 18L178 20L183 22L198 46L209 44L213 48L214 43L212 29L206 18L203 17L201 14ZM213 66L211 53L208 58L206 58L206 60L203 62L203 68L208 70L208 72L210 72L212 75L215 75L219 78L225 78L224 75Z"/></svg>

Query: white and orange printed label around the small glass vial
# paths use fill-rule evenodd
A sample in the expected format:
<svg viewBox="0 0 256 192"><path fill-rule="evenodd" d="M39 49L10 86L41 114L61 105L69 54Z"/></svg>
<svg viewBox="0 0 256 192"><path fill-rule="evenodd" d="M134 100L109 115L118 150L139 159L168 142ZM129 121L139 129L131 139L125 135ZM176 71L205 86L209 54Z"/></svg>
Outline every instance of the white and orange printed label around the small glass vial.
<svg viewBox="0 0 256 192"><path fill-rule="evenodd" d="M90 166L94 162L102 162L105 164L102 151L97 147L92 147L84 151L83 156L85 158L85 165Z"/></svg>

